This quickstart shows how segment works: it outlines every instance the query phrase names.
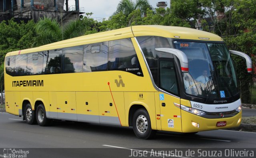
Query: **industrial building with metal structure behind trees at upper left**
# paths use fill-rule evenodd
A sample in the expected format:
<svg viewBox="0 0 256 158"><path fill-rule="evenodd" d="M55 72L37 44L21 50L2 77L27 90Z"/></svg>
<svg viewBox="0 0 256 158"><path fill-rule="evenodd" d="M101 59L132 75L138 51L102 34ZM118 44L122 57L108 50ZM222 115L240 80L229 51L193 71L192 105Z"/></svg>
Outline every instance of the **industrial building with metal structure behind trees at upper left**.
<svg viewBox="0 0 256 158"><path fill-rule="evenodd" d="M17 22L32 19L36 22L45 16L65 24L84 13L84 8L79 8L79 0L74 1L75 6L68 6L68 0L0 0L0 22L11 18Z"/></svg>

